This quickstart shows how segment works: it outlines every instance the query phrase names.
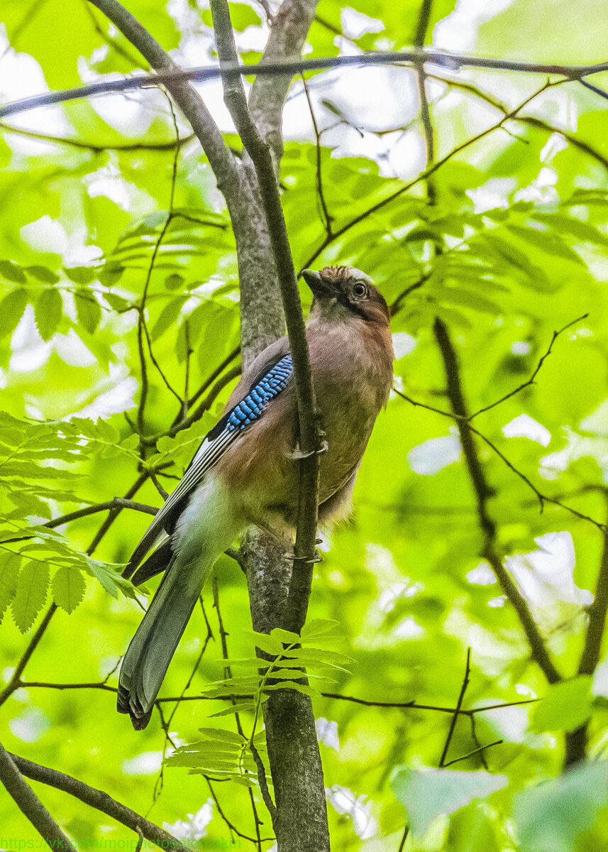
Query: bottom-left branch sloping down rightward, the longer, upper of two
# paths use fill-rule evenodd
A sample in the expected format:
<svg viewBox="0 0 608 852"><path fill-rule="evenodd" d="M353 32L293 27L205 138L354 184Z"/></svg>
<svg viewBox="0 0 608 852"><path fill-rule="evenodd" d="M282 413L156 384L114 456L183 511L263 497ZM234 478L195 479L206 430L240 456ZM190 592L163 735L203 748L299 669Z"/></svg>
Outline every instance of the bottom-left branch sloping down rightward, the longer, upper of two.
<svg viewBox="0 0 608 852"><path fill-rule="evenodd" d="M72 775L59 772L57 769L49 769L46 766L41 766L39 763L32 763L31 760L26 760L25 757L18 757L15 754L11 754L10 758L16 768L26 778L39 781L41 784L47 784L54 787L55 790L62 790L69 793L84 804L88 804L91 808L95 808L96 810L100 810L102 814L111 816L113 820L122 823L123 826L127 826L134 832L141 832L146 840L154 843L161 849L177 849L179 852L187 852L187 847L174 838L172 834L155 826L153 822L135 813L135 810L131 810L122 803L117 802L116 799L108 796L106 792L95 790L95 787L90 787L88 784L84 784L83 781L73 778ZM50 835L47 836L50 837ZM67 841L67 838L66 843L68 843L67 847L56 846L54 848L71 849L72 846Z"/></svg>

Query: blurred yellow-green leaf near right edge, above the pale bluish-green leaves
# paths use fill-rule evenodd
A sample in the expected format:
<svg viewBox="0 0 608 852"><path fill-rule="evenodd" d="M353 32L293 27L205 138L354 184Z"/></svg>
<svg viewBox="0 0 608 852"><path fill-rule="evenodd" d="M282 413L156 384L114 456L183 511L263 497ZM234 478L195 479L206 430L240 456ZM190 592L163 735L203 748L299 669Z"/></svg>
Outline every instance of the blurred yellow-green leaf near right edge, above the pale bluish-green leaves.
<svg viewBox="0 0 608 852"><path fill-rule="evenodd" d="M591 675L554 683L531 712L531 730L573 731L591 716Z"/></svg>

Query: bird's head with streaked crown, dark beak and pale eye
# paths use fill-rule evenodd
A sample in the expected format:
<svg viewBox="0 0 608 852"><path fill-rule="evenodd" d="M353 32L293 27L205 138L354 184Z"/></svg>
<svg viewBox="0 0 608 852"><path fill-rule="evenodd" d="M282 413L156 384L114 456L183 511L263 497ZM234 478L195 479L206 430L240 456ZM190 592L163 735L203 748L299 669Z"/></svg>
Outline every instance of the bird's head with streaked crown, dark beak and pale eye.
<svg viewBox="0 0 608 852"><path fill-rule="evenodd" d="M388 325L387 302L369 275L353 267L304 269L302 278L313 291L313 314L326 320L347 321L353 316Z"/></svg>

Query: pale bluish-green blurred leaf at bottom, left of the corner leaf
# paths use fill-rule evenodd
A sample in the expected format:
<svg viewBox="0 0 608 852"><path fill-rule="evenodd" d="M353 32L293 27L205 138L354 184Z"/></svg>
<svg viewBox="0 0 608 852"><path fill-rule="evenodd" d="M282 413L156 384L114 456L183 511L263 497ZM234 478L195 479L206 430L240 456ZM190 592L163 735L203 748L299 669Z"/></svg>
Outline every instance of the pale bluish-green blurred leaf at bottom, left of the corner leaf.
<svg viewBox="0 0 608 852"><path fill-rule="evenodd" d="M453 814L475 798L484 798L507 786L506 775L455 772L452 769L396 767L391 780L395 797L404 806L417 837L440 814Z"/></svg>

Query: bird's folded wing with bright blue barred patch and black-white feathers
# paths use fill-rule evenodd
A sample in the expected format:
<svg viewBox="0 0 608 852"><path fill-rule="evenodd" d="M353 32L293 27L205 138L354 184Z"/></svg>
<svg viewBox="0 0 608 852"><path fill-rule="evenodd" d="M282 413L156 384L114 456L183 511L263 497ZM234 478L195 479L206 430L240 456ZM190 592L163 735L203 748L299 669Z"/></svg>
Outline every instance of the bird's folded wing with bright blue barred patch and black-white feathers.
<svg viewBox="0 0 608 852"><path fill-rule="evenodd" d="M267 364L262 374L254 378L248 394L232 406L209 431L179 485L154 516L144 537L135 548L129 565L123 571L124 577L130 577L135 572L135 568L163 533L172 531L177 517L181 515L190 495L201 483L204 475L215 466L238 435L261 417L267 404L290 382L292 373L291 355L278 354L273 363L271 361Z"/></svg>

